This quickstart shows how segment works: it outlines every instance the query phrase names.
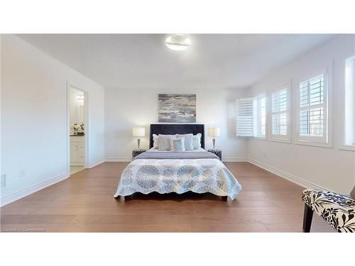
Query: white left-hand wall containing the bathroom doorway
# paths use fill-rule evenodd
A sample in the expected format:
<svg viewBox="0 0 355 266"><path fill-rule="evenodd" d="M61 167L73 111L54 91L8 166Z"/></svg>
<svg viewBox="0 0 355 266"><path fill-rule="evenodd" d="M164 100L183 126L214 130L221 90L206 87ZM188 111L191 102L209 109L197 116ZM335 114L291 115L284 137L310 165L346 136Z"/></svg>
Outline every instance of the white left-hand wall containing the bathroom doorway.
<svg viewBox="0 0 355 266"><path fill-rule="evenodd" d="M104 88L16 35L1 38L1 205L69 175L67 81L89 95L89 166L104 159ZM26 177L19 177L24 170Z"/></svg>

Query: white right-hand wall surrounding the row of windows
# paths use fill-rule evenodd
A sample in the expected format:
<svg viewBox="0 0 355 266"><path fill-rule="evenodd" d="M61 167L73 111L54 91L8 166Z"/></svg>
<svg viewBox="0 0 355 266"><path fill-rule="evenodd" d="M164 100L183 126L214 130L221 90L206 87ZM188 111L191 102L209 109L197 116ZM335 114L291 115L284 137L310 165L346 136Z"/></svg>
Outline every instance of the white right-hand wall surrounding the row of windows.
<svg viewBox="0 0 355 266"><path fill-rule="evenodd" d="M344 60L355 54L354 35L340 35L312 50L290 65L273 71L255 84L250 96L256 96L279 84L293 81L307 72L320 70L334 60L332 84L332 143L333 148L319 148L290 143L275 143L251 139L248 153L251 160L279 171L287 177L298 179L307 187L323 187L336 192L351 191L355 182L355 153L339 150L344 143ZM295 89L293 82L292 127L295 140ZM295 181L295 180L294 180Z"/></svg>

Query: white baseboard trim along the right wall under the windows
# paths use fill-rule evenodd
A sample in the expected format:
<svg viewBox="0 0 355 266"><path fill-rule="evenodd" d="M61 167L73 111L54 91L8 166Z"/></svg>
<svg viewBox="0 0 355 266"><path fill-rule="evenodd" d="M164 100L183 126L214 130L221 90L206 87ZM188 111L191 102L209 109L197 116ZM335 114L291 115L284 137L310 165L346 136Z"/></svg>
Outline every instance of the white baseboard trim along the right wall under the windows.
<svg viewBox="0 0 355 266"><path fill-rule="evenodd" d="M295 184L298 184L301 187L305 187L307 189L321 189L321 190L329 190L327 188L321 187L317 184L314 184L312 182L309 182L305 179L302 179L300 177L296 177L293 174L290 174L288 172L284 172L283 170L280 170L278 168L272 167L270 165L266 165L263 162L259 162L258 160L254 160L249 158L249 162L253 165L256 165L257 167L260 167L263 170L266 170L268 172L272 172L273 174L278 175L279 177L282 177L284 179L287 179L290 182L293 182Z"/></svg>

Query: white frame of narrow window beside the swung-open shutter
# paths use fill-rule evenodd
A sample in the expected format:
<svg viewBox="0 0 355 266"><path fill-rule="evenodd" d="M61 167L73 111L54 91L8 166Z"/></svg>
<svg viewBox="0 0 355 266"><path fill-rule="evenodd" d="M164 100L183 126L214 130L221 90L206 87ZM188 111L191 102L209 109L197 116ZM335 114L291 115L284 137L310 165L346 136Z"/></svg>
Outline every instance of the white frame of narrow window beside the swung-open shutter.
<svg viewBox="0 0 355 266"><path fill-rule="evenodd" d="M265 98L265 135L261 135L261 99ZM268 140L268 95L259 94L254 97L254 133L253 138Z"/></svg>

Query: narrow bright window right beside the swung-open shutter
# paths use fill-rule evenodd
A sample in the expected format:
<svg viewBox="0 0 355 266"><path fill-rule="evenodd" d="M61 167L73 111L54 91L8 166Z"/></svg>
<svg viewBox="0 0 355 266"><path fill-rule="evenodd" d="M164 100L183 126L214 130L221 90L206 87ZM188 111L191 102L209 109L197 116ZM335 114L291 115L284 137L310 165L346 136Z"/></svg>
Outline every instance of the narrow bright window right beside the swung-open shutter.
<svg viewBox="0 0 355 266"><path fill-rule="evenodd" d="M254 137L266 138L266 95L254 99Z"/></svg>

